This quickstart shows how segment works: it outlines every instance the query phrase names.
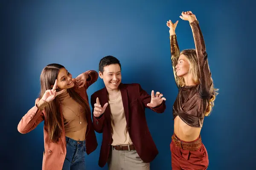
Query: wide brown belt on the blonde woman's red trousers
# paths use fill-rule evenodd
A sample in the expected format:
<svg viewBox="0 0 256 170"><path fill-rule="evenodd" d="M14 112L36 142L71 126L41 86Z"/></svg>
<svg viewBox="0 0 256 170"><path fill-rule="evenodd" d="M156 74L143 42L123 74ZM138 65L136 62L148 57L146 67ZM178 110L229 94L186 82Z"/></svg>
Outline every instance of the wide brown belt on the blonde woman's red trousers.
<svg viewBox="0 0 256 170"><path fill-rule="evenodd" d="M198 150L202 146L201 135L199 136L199 139L197 141L190 143L180 141L175 135L172 135L172 140L177 147L180 147L184 150Z"/></svg>

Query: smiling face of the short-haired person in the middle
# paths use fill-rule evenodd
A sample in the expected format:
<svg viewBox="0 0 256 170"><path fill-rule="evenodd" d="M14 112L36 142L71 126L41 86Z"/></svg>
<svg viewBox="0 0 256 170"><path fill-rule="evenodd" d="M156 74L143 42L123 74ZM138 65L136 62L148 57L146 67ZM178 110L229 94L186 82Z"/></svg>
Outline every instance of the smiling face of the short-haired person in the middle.
<svg viewBox="0 0 256 170"><path fill-rule="evenodd" d="M115 91L121 83L121 68L119 64L107 65L103 68L103 72L99 71L99 77L108 90Z"/></svg>

